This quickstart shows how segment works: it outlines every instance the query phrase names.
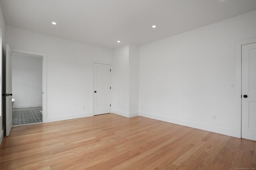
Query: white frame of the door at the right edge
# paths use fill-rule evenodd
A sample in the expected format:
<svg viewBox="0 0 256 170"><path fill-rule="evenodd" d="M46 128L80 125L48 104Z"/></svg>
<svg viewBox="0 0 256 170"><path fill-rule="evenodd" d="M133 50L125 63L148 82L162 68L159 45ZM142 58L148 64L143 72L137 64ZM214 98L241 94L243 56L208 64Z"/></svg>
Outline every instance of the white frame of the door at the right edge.
<svg viewBox="0 0 256 170"><path fill-rule="evenodd" d="M256 38L236 43L236 131L242 138L242 45L256 43Z"/></svg>

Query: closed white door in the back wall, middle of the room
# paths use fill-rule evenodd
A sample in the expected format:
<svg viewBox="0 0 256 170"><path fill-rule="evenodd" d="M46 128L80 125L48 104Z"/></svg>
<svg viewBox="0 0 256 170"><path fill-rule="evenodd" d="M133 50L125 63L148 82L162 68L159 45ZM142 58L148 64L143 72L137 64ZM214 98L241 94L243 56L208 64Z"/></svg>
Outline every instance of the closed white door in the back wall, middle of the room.
<svg viewBox="0 0 256 170"><path fill-rule="evenodd" d="M94 63L94 115L110 113L110 65Z"/></svg>

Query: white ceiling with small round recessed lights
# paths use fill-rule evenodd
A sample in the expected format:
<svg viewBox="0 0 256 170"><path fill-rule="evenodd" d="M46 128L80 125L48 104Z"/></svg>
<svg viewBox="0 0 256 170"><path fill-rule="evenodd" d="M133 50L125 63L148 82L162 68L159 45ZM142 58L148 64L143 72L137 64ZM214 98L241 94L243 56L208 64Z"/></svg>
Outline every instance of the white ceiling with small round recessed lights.
<svg viewBox="0 0 256 170"><path fill-rule="evenodd" d="M256 10L256 0L0 0L0 4L7 25L111 49L127 43L143 45Z"/></svg>

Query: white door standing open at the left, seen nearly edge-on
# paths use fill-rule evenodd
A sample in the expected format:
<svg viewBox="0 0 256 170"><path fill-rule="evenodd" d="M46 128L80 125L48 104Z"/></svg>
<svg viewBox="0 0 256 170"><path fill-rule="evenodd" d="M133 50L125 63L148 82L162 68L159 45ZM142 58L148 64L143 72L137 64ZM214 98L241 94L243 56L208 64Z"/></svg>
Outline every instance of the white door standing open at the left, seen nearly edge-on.
<svg viewBox="0 0 256 170"><path fill-rule="evenodd" d="M6 45L6 136L12 129L12 49Z"/></svg>

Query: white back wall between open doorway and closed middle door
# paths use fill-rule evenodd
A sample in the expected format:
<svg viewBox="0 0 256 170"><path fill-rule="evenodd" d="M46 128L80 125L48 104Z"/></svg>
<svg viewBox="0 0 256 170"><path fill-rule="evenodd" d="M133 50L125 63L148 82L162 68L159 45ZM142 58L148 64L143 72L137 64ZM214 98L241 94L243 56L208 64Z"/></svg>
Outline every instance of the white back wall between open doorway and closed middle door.
<svg viewBox="0 0 256 170"><path fill-rule="evenodd" d="M47 119L92 116L92 60L112 62L112 50L6 25L11 48L47 54ZM82 107L85 106L85 109Z"/></svg>

